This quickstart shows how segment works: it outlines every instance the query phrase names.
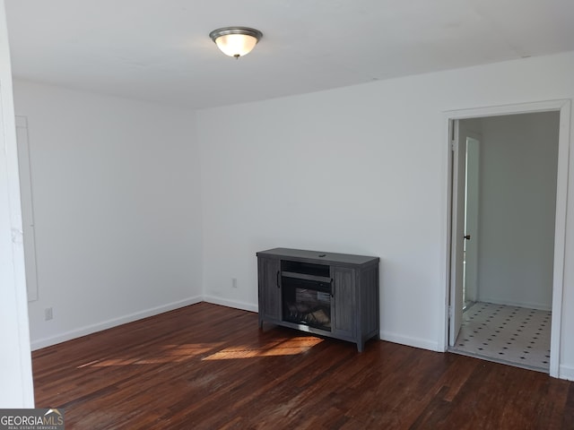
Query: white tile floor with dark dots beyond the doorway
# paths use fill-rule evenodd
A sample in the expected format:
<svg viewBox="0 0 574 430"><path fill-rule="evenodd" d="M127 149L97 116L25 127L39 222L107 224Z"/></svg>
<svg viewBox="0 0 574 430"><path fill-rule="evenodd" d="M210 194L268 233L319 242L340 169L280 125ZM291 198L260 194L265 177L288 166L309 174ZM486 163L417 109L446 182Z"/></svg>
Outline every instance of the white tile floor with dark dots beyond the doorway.
<svg viewBox="0 0 574 430"><path fill-rule="evenodd" d="M477 302L463 314L454 352L548 372L551 312Z"/></svg>

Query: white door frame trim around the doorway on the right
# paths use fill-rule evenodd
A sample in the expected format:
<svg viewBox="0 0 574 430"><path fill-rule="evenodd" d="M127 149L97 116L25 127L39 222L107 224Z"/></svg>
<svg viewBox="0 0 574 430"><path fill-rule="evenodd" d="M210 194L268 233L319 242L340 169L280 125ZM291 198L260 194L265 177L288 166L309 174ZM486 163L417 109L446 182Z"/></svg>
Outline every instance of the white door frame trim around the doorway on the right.
<svg viewBox="0 0 574 430"><path fill-rule="evenodd" d="M445 295L441 306L443 308L442 339L439 345L443 345L444 350L448 350L448 303L450 300L451 284L451 243L452 243L452 162L453 152L451 150L451 127L457 119L480 118L485 116L503 116L512 114L527 114L535 112L560 112L560 125L558 135L558 171L556 177L556 216L554 228L554 263L552 270L552 329L550 340L550 375L560 377L560 355L561 355L561 322L563 305L563 284L564 284L564 256L566 245L566 211L568 202L568 170L570 159L570 99L537 101L530 103L520 103L514 105L504 105L495 107L477 107L469 109L457 109L443 112L443 136L445 142L445 159L447 161L447 207L444 225L446 232L446 243L444 245L444 257L446 261L445 271Z"/></svg>

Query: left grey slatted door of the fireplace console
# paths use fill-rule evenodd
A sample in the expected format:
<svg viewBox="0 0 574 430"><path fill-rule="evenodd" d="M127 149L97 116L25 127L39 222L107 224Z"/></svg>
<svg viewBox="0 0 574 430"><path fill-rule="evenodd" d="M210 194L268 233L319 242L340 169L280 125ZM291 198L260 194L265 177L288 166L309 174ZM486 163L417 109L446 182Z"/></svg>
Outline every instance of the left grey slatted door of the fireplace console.
<svg viewBox="0 0 574 430"><path fill-rule="evenodd" d="M281 261L275 258L257 259L259 289L259 327L263 321L281 323Z"/></svg>

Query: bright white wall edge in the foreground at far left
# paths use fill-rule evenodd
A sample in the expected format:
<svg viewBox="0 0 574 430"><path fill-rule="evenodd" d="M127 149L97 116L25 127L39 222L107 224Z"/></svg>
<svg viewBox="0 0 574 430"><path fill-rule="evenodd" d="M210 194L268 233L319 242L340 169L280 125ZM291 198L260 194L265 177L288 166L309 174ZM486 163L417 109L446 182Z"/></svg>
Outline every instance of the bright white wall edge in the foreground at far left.
<svg viewBox="0 0 574 430"><path fill-rule="evenodd" d="M0 408L33 408L22 213L4 0L0 0Z"/></svg>

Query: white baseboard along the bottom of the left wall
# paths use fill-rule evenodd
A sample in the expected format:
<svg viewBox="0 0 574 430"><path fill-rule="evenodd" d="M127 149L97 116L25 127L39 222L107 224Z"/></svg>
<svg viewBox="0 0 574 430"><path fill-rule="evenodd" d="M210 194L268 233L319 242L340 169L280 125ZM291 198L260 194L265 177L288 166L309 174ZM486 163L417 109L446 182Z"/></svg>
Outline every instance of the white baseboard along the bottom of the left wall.
<svg viewBox="0 0 574 430"><path fill-rule="evenodd" d="M136 312L134 314L128 314L120 316L118 318L112 318L111 320L103 321L101 323L86 325L73 331L65 331L64 333L60 333L57 336L52 336L50 338L32 340L30 342L30 348L32 351L34 351L39 348L50 347L52 345L56 345L57 343L65 342L66 340L73 340L76 338L80 338L87 334L95 333L96 331L107 330L112 327L116 327L117 325L132 323L134 321L147 318L148 316L163 314L164 312L173 311L174 309L178 309L179 307L195 305L196 303L200 303L202 301L203 298L201 296L189 297L184 300L179 300L178 302L169 303L168 305L152 307L151 309L146 309L144 311Z"/></svg>

